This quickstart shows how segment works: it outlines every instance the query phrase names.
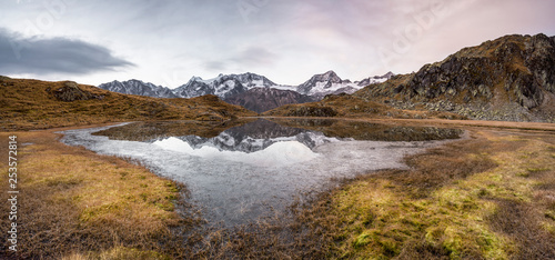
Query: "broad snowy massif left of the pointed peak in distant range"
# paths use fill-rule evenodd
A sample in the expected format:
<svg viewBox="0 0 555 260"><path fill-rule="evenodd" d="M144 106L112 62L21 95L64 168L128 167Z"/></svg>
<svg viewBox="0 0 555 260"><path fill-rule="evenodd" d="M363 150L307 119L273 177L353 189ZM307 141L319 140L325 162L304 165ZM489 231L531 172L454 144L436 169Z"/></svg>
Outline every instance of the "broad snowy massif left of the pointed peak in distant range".
<svg viewBox="0 0 555 260"><path fill-rule="evenodd" d="M220 74L214 79L203 80L193 77L185 84L174 89L181 98L193 98L204 94L215 94L222 99L245 92L252 88L269 88L276 83L255 73Z"/></svg>

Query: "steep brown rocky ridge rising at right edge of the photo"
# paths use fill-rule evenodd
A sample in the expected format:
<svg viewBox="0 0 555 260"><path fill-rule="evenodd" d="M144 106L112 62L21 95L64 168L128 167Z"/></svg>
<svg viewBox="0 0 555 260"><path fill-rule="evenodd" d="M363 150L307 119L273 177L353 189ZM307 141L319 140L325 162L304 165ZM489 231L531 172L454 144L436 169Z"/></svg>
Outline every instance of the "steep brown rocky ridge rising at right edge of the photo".
<svg viewBox="0 0 555 260"><path fill-rule="evenodd" d="M402 109L448 111L471 119L555 121L555 40L505 36L464 48L417 72L354 93Z"/></svg>

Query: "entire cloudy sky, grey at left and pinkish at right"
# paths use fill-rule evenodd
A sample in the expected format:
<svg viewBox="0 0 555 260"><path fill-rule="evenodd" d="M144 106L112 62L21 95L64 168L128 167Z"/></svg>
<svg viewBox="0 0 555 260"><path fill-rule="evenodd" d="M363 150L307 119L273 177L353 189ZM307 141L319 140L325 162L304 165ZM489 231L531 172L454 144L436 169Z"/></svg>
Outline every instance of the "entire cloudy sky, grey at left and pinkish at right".
<svg viewBox="0 0 555 260"><path fill-rule="evenodd" d="M407 73L505 34L555 36L555 0L0 0L0 74L170 88L254 72Z"/></svg>

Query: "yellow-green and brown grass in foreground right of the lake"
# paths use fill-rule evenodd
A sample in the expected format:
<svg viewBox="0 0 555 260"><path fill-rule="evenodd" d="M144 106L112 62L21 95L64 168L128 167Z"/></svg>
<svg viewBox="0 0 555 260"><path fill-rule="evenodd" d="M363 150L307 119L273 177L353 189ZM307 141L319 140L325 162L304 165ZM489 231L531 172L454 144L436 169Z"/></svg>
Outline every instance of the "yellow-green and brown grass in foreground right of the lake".
<svg viewBox="0 0 555 260"><path fill-rule="evenodd" d="M381 172L335 190L315 214L336 241L332 254L555 257L555 138L480 132L407 158L410 171Z"/></svg>

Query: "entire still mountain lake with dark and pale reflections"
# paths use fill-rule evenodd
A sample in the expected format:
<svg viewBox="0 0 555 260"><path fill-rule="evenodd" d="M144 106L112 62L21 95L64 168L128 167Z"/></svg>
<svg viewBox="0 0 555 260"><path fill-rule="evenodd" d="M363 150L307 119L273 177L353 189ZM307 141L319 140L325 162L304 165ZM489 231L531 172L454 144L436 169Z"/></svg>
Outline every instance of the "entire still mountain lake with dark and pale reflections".
<svg viewBox="0 0 555 260"><path fill-rule="evenodd" d="M462 130L342 120L134 122L64 131L62 142L140 161L182 182L203 217L225 227L283 210L336 179L404 168L402 158Z"/></svg>

